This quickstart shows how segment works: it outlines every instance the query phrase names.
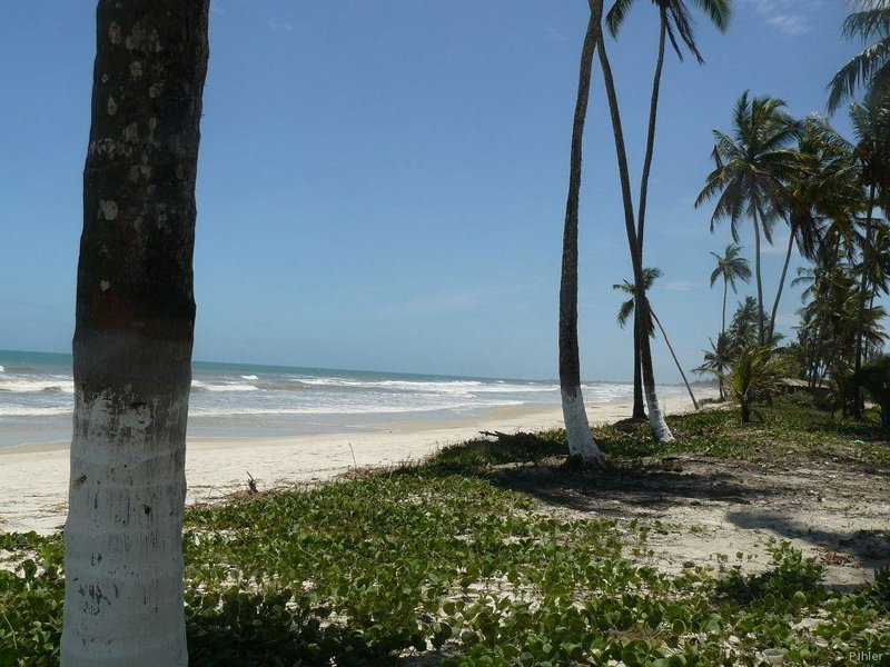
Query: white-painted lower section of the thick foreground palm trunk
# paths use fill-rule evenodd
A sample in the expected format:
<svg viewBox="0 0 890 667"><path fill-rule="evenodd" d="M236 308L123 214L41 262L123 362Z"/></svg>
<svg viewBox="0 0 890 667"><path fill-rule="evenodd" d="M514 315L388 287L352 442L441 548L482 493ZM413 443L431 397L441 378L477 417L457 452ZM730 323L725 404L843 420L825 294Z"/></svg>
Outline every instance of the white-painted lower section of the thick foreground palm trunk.
<svg viewBox="0 0 890 667"><path fill-rule="evenodd" d="M187 665L188 394L146 404L78 390L75 400L62 665Z"/></svg>

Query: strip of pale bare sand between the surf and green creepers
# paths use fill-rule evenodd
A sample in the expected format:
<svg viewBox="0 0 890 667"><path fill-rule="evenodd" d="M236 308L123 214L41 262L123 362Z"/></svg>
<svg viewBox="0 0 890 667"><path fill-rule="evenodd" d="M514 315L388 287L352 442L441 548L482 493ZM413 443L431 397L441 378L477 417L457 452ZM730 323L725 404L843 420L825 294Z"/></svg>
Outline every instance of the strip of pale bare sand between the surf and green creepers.
<svg viewBox="0 0 890 667"><path fill-rule="evenodd" d="M701 390L701 397L713 391ZM589 406L594 425L626 418L631 401ZM671 397L669 414L692 408ZM384 432L293 438L191 438L186 455L187 504L212 501L247 488L248 471L260 490L332 479L352 468L418 460L479 431L538 431L562 427L562 411L526 406L495 408L475 420L394 422ZM52 532L65 524L69 442L0 449L0 530Z"/></svg>

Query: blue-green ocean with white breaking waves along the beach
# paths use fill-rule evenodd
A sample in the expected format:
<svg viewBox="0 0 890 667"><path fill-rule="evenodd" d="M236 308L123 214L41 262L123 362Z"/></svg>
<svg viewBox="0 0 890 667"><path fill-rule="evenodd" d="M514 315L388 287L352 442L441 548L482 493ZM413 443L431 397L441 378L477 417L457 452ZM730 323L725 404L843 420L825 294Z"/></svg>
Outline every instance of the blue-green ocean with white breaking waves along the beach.
<svg viewBox="0 0 890 667"><path fill-rule="evenodd" d="M0 447L70 440L71 356L0 350ZM632 396L622 382L583 386L587 404ZM676 395L679 387L664 387ZM393 422L476 417L502 406L557 407L555 380L471 378L246 364L192 364L192 437L384 430Z"/></svg>

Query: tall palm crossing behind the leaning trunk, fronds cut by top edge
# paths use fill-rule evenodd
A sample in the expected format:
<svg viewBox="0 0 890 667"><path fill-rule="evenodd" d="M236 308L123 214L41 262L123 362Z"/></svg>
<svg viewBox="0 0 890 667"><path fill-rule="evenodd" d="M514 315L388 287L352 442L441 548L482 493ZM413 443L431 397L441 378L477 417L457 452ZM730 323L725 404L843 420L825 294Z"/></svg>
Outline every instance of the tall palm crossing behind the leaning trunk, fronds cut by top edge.
<svg viewBox="0 0 890 667"><path fill-rule="evenodd" d="M615 0L612 9L606 14L606 26L612 37L617 37L624 19L631 7L636 0ZM695 32L693 20L690 16L685 0L652 0L659 8L660 30L659 30L659 51L655 59L655 74L652 80L652 100L649 110L649 130L646 133L646 148L643 158L643 172L640 178L640 208L636 222L636 243L640 248L640 261L643 261L643 235L645 231L646 202L649 199L649 179L652 170L652 157L655 148L655 121L659 113L659 93L661 91L662 69L664 66L664 51L666 39L678 58L683 60L683 49L680 41L695 56L699 63L704 62L695 43ZM729 26L731 9L730 0L691 0L702 11L704 11L716 28L724 32ZM633 337L633 418L645 417L643 409L642 374L640 368L640 338L641 328L637 317L634 316L634 337Z"/></svg>

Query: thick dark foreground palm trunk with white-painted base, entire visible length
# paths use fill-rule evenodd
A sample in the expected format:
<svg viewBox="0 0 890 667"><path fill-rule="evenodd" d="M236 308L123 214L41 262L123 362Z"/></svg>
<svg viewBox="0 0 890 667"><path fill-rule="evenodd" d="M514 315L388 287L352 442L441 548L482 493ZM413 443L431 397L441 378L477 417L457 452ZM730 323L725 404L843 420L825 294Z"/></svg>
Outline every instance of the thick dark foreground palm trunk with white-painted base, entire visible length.
<svg viewBox="0 0 890 667"><path fill-rule="evenodd" d="M97 9L73 338L66 666L188 661L181 540L208 6L100 0Z"/></svg>

